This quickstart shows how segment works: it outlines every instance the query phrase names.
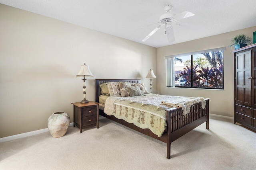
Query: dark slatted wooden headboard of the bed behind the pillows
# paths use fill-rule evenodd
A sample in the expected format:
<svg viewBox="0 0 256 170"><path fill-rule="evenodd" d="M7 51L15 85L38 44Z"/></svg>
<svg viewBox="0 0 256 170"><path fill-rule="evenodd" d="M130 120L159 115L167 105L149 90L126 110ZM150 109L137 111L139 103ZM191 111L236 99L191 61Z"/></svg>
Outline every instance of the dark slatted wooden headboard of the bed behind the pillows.
<svg viewBox="0 0 256 170"><path fill-rule="evenodd" d="M140 79L95 79L96 80L96 92L95 92L95 102L99 102L99 97L101 95L100 84L107 82L129 82L129 83L139 83Z"/></svg>

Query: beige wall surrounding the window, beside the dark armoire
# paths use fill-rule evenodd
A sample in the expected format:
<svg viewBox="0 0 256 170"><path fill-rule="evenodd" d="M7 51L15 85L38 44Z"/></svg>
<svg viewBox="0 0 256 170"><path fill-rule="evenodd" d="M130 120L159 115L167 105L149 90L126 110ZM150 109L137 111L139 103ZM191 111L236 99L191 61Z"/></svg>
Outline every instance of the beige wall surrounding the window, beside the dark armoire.
<svg viewBox="0 0 256 170"><path fill-rule="evenodd" d="M232 31L211 37L157 48L157 92L173 96L203 96L210 98L210 113L233 117L233 53L228 47L232 37L244 33L252 37L256 27ZM224 51L224 90L203 90L188 88L166 88L165 56L226 47Z"/></svg>

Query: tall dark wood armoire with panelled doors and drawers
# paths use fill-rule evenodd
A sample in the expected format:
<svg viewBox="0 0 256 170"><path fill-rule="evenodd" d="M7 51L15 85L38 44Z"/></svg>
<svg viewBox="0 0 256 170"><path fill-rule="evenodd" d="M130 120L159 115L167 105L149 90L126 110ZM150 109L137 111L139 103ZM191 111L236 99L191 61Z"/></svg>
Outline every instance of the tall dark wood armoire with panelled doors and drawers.
<svg viewBox="0 0 256 170"><path fill-rule="evenodd" d="M256 44L234 53L234 124L256 131Z"/></svg>

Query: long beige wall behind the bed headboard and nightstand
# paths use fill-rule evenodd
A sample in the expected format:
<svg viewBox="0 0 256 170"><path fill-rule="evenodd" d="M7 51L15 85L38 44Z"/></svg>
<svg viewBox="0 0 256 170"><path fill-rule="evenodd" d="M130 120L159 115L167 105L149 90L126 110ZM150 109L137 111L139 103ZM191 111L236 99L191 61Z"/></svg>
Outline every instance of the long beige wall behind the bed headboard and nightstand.
<svg viewBox="0 0 256 170"><path fill-rule="evenodd" d="M140 78L150 88L156 48L0 4L0 138L47 128L57 111L73 121L84 63L94 74L86 99L94 100L94 78Z"/></svg>

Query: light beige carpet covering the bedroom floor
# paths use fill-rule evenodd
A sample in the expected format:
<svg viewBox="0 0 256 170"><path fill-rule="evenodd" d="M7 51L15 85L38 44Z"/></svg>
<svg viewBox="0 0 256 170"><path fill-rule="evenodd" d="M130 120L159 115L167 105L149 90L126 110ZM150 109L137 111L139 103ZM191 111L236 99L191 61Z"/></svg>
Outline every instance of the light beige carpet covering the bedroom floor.
<svg viewBox="0 0 256 170"><path fill-rule="evenodd" d="M64 137L50 133L0 143L0 169L120 170L120 169L256 169L256 133L231 120L211 117L171 145L108 119L100 128L79 133L69 127Z"/></svg>

